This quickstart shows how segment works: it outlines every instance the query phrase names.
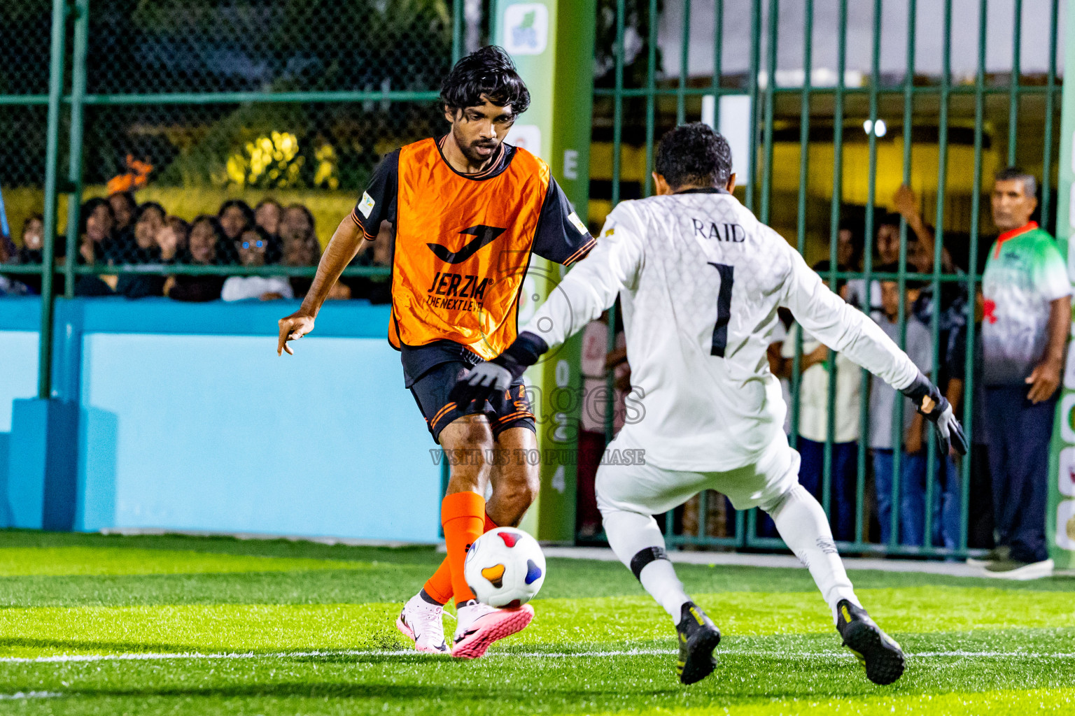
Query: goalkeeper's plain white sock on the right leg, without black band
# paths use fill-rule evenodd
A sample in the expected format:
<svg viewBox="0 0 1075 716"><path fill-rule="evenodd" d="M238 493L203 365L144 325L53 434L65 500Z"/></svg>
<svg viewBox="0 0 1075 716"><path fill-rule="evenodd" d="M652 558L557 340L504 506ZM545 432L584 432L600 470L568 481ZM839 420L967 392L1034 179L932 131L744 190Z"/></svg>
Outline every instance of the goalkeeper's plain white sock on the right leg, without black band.
<svg viewBox="0 0 1075 716"><path fill-rule="evenodd" d="M836 603L841 599L862 605L836 552L825 510L805 487L796 483L773 505L761 507L773 517L787 545L809 569L811 576L832 610L833 624L836 623Z"/></svg>

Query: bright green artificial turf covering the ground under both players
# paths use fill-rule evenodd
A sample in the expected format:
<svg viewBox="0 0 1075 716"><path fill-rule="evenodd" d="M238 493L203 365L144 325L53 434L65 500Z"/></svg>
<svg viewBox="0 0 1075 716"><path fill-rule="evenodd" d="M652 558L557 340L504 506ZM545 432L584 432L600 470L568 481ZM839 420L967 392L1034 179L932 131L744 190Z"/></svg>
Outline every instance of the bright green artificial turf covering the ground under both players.
<svg viewBox="0 0 1075 716"><path fill-rule="evenodd" d="M877 687L805 570L677 566L725 633L683 687L671 620L616 562L549 559L534 623L484 659L408 652L396 614L441 559L0 531L0 714L1075 713L1072 579L851 572L911 655Z"/></svg>

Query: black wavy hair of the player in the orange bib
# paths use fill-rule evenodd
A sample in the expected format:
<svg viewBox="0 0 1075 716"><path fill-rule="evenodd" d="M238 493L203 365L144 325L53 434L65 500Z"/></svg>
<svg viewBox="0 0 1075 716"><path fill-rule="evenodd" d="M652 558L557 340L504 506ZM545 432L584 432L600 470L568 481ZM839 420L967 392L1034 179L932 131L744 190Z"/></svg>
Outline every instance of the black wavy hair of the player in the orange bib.
<svg viewBox="0 0 1075 716"><path fill-rule="evenodd" d="M441 85L441 100L452 109L479 105L483 94L498 106L512 105L517 115L530 106L530 91L515 63L497 45L481 47L456 62Z"/></svg>

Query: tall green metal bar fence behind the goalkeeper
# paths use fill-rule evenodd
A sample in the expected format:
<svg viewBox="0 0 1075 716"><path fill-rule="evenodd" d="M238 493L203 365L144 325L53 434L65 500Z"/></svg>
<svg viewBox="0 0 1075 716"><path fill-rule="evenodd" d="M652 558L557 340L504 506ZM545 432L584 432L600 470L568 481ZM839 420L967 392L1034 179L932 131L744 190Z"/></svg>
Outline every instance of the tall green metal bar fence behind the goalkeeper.
<svg viewBox="0 0 1075 716"><path fill-rule="evenodd" d="M997 0L994 0L994 3ZM642 5L643 0L637 2ZM957 82L952 77L952 2L930 3L927 10L934 11L937 6L941 10L942 23L940 28L931 28L931 31L940 31L940 72L933 76L923 75L916 72L918 62L921 60L918 41L921 34L918 32L918 18L922 14L922 3L916 0L874 0L873 20L869 34L859 33L851 39L858 46L871 43L870 65L861 73L863 77L860 86L846 86L847 57L848 57L848 0L838 0L838 9L835 17L835 27L831 24L825 28L819 28L816 20L816 11L820 3L813 0L802 0L794 3L779 2L779 0L743 0L740 2L726 2L725 0L712 0L701 2L699 0L682 0L679 3L679 17L682 24L679 33L679 72L677 76L664 76L659 79L660 69L657 56L657 32L656 21L649 23L648 55L646 56L647 71L645 73L645 84L636 87L628 87L625 83L624 68L628 61L625 57L626 34L625 18L629 16L629 10L633 6L626 0L618 0L615 3L617 13L617 54L612 87L598 87L594 89L596 107L601 111L601 100L606 100L605 111L608 111L612 118L612 205L615 205L622 195L622 184L625 167L621 161L621 154L627 143L625 136L643 137L641 145L644 147L646 156L645 177L640 180L642 195L649 195L653 186L649 180L651 171L651 156L655 140L659 138L658 126L671 127L673 123L698 120L700 118L700 98L710 96L717 98L714 101L716 116L714 122L719 122L719 98L723 96L746 96L750 101L749 132L750 142L746 151L750 156L750 181L745 190L737 189L736 194L742 198L744 204L756 211L758 218L770 223L778 231L782 231L803 254L828 255L830 269L822 273L830 287L836 288L837 282L848 279L858 279L866 287L866 299L869 299L872 281L885 279L898 282L900 295L906 291L908 276L908 227L904 219L900 221L900 252L899 272L879 273L877 267L877 257L874 252L874 234L877 231L878 219L878 148L884 142L890 145L902 144L902 173L901 179L906 185L934 186L932 195L926 198L934 204L934 250L932 254L932 271L922 275L913 275L916 280L923 280L934 297L934 309L932 318L928 324L933 345L933 368L932 379L934 381L944 376L940 375L943 367L943 351L940 340L945 336L941 325L941 295L942 289L958 287L965 298L965 365L963 366L965 380L963 389L963 404L960 408L963 424L965 426L969 440L973 440L975 433L974 424L974 342L975 342L975 291L980 284L980 267L978 265L979 247L986 247L992 242L992 235L988 235L988 229L984 230L981 223L981 198L984 189L988 191L991 186L991 177L983 176L986 170L987 154L995 167L1004 165L1021 164L1032 173L1041 177L1041 223L1046 228L1051 228L1052 214L1055 211L1056 186L1056 157L1058 137L1054 135L1054 125L1056 114L1059 111L1059 98L1061 87L1057 77L1057 50L1058 50L1058 16L1059 0L1044 0L1034 3L1033 11L1040 16L1048 16L1048 36L1040 39L1040 43L1048 45L1048 60L1046 72L1034 76L1022 76L1021 54L1023 43L1021 42L1023 3L1021 0L1007 0L1002 4L1013 12L1010 21L1009 46L1014 55L1010 73L1007 76L990 75L987 73L987 16L989 11L988 0L979 0L976 17L961 18L968 23L972 19L977 23L977 62L973 77L973 83L968 82L968 77ZM672 3L663 3L666 12ZM856 11L863 11L868 3L855 3ZM828 5L826 5L828 6ZM886 8L900 8L906 10L906 25L903 28L891 29L891 24L883 28L882 17ZM787 31L786 26L779 23L782 9L793 9L802 13L803 23L801 28L797 28L793 42L802 46L802 81L793 86L780 86L778 82L779 69L777 59L778 49L788 40L780 36L782 31ZM689 65L689 38L692 29L698 31L697 17L702 11L713 12L713 25L706 27L705 32L712 31L714 38L713 71L712 75L699 77L697 73L691 76ZM726 25L729 13L743 13L749 11L749 54L748 68L745 74L729 75L726 73L728 62L726 61L726 47L729 38L726 33ZM693 15L692 15L693 11ZM650 18L655 18L659 12L657 0L648 0ZM885 17L891 17L886 15ZM829 17L831 20L832 18ZM669 24L668 27L671 27ZM815 67L814 57L817 46L809 39L816 38L818 30L829 32L834 35L836 47L835 81L830 86L817 86L813 82L813 71ZM834 31L833 31L834 30ZM882 69L882 38L883 30L889 32L902 32L905 40L905 69L902 77L893 77L891 71L886 75ZM993 35L995 36L995 35ZM805 41L803 39L806 39ZM742 48L740 48L742 49ZM832 69L831 65L829 69ZM1042 76L1044 75L1044 76ZM973 101L973 107L969 107L968 100ZM1006 105L1002 106L1005 103ZM855 103L855 108L849 112L849 103ZM611 102L611 111L607 103ZM644 108L639 102L644 102ZM630 107L628 104L630 103ZM954 105L958 103L958 116L952 118ZM1044 106L1043 106L1044 105ZM878 119L882 119L882 108L885 114L892 117L894 112L902 107L900 125L902 131L892 132L886 137L878 135ZM973 113L973 114L972 114ZM640 120L644 128L639 127ZM954 129L968 127L973 117L973 165L964 163L966 154L960 154L958 164L952 164L950 134ZM863 236L861 268L855 266L851 269L838 266L838 231L842 218L848 210L845 203L844 180L847 176L843 165L844 156L850 141L846 132L862 131L856 129L862 120L869 122L866 131L865 150L865 201L864 206L859 206L861 213L859 225ZM633 122L633 123L632 123ZM895 122L891 122L895 123ZM1006 127L1005 127L1006 126ZM634 131L632 131L634 130ZM812 130L826 130L816 132ZM831 130L831 138L828 131ZM930 130L919 132L916 130ZM935 138L922 140L922 136L933 136ZM779 134L779 137L777 137ZM793 136L798 137L798 166L792 163L780 165L778 154L775 149L778 144L790 145L796 143ZM1029 143L1022 137L1042 137L1041 154L1036 149L1029 147ZM820 137L820 138L819 138ZM858 144L858 143L856 143ZM928 162L916 162L916 148L928 145L928 154L935 154L935 166L923 170L921 164ZM815 149L831 146L832 149L832 175L820 181L818 174L811 173L812 151ZM1006 148L1002 151L1001 147ZM894 149L894 146L893 146ZM1033 152L1033 154L1031 154ZM793 156L791 151L783 152L783 157ZM887 155L891 158L892 152ZM952 165L949 165L952 164ZM826 167L827 169L827 167ZM788 175L798 170L798 189L794 192L794 200L786 196L784 206L793 206L793 211L783 210L780 216L774 214L774 182L778 174ZM891 174L891 167L887 167ZM968 176L970 174L970 177ZM820 182L819 182L820 181ZM986 184L984 184L986 182ZM970 204L970 216L957 219L949 211L952 203L949 201L952 184L966 186L960 196L963 204ZM829 198L828 210L820 208L821 199ZM854 208L854 207L851 207ZM926 215L929 206L922 207ZM962 223L960 223L960 221ZM989 227L990 224L986 224ZM957 237L957 234L965 233L964 237ZM986 233L986 235L984 235ZM943 271L945 239L959 238L960 252L965 253L964 269L957 273L945 273ZM959 262L957 262L959 263ZM611 321L614 321L613 317ZM900 326L900 345L906 345L906 316L905 302L900 302L898 322ZM801 407L801 366L803 361L802 336L799 334L798 346L791 366L791 405L790 410L790 440L792 444L799 441L799 426L802 415ZM610 349L614 346L615 336L610 332ZM830 352L826 364L828 375L834 376L835 360ZM923 515L923 535L920 541L923 546L905 546L900 540L900 495L901 495L901 450L893 451L893 479L892 479L892 512L890 538L887 543L880 544L876 540L869 539L869 523L864 515L870 506L869 480L871 473L870 461L868 459L868 444L871 419L869 398L869 374L862 371L861 382L861 404L859 408L859 449L856 462L856 488L855 501L855 529L854 539L841 542L841 549L848 552L860 553L888 553L905 555L936 555L949 557L962 557L972 553L968 546L968 520L969 520L969 495L971 491L972 471L981 469L984 466L973 462L972 455L968 455L958 461L959 469L959 494L961 499L961 518L959 535L956 543L948 547L935 545L934 534L934 500L937 497L937 467L944 456L937 455L932 436L927 435L923 444L927 445L927 485L926 485L926 509ZM829 380L829 410L828 430L825 442L823 474L818 497L829 513L833 507L834 495L832 491L833 474L833 427L836 417L834 410L836 380ZM612 379L610 379L610 390L612 390ZM893 418L893 444L901 445L903 425L903 404L902 400L895 403L895 415ZM611 438L613 433L612 415L607 417L606 434ZM717 449L717 447L715 447ZM703 494L698 502L692 507L697 509L699 515L699 528L697 534L685 534L678 526L680 511L669 512L664 515L665 535L670 544L675 545L708 545L723 547L756 547L756 549L777 549L783 546L783 542L774 537L761 537L758 535L757 525L759 516L756 510L748 514L736 513L734 523L728 520L728 525L734 524L734 529L729 528L727 534L711 535L706 529L708 517L708 505L713 499L723 499L715 493ZM730 506L728 507L730 511ZM730 514L730 512L729 512Z"/></svg>

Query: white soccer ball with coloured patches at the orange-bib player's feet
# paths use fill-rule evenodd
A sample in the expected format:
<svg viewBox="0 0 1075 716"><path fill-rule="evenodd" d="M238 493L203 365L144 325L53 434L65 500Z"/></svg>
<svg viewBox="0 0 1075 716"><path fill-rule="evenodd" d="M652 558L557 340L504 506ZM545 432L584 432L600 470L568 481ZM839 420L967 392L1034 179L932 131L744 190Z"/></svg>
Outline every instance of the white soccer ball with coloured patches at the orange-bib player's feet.
<svg viewBox="0 0 1075 716"><path fill-rule="evenodd" d="M521 529L497 527L474 540L463 565L467 584L490 607L521 607L545 581L545 555Z"/></svg>

